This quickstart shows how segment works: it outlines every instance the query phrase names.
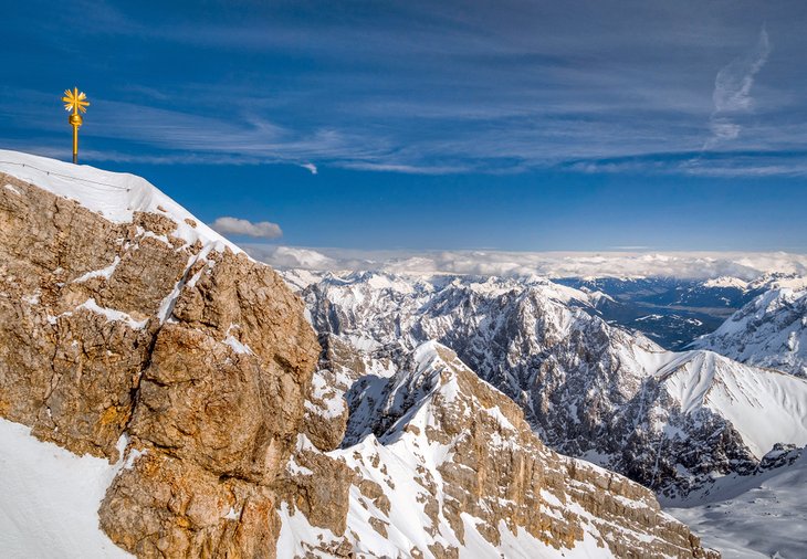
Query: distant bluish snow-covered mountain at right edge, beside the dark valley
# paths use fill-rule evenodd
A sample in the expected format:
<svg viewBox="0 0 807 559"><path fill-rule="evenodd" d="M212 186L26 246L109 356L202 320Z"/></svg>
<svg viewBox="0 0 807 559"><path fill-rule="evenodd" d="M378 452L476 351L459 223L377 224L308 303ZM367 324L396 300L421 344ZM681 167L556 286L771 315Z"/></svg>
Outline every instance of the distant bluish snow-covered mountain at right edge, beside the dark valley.
<svg viewBox="0 0 807 559"><path fill-rule="evenodd" d="M779 286L757 296L692 347L807 377L807 288Z"/></svg>

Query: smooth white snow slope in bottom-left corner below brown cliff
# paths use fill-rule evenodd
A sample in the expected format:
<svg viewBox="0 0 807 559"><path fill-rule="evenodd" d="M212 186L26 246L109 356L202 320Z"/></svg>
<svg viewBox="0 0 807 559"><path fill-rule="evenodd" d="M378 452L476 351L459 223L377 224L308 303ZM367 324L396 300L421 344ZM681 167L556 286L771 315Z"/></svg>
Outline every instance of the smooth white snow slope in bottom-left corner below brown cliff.
<svg viewBox="0 0 807 559"><path fill-rule="evenodd" d="M41 442L0 419L0 556L124 558L98 527L98 507L120 468Z"/></svg>

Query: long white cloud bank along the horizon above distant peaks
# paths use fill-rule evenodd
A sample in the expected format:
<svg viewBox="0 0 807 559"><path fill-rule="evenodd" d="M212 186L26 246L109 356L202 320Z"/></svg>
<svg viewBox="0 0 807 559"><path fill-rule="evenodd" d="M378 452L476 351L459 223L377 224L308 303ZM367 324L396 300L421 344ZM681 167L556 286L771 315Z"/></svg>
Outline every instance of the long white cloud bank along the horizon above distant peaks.
<svg viewBox="0 0 807 559"><path fill-rule="evenodd" d="M541 275L546 277L733 276L751 281L778 272L807 275L807 255L785 252L497 252L355 251L252 244L254 259L279 268L376 270L400 274Z"/></svg>

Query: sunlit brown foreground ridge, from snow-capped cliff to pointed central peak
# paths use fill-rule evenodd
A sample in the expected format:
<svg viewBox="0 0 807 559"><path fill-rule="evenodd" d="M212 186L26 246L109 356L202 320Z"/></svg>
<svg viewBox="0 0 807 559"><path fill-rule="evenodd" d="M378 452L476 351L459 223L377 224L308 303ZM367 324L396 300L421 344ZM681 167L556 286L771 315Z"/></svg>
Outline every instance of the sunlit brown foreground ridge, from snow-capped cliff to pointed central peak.
<svg viewBox="0 0 807 559"><path fill-rule="evenodd" d="M357 383L360 341L323 337L314 376L271 268L142 179L3 156L25 180L0 172L0 416L115 464L99 526L128 552L714 556L450 350L390 348Z"/></svg>

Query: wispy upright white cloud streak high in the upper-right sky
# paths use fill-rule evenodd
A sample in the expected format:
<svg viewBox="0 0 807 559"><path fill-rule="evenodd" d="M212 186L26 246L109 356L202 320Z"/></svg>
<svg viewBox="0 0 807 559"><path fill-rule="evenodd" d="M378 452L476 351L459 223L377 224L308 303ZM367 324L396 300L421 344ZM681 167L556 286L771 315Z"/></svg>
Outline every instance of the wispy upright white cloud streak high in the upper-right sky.
<svg viewBox="0 0 807 559"><path fill-rule="evenodd" d="M751 88L769 54L771 41L763 25L754 49L717 72L712 94L714 112L710 119L712 136L706 140L704 149L711 149L740 136L742 126L736 122L736 117L753 110L754 98L751 96Z"/></svg>

